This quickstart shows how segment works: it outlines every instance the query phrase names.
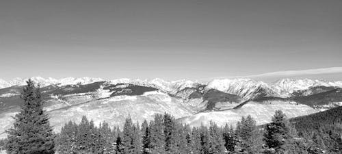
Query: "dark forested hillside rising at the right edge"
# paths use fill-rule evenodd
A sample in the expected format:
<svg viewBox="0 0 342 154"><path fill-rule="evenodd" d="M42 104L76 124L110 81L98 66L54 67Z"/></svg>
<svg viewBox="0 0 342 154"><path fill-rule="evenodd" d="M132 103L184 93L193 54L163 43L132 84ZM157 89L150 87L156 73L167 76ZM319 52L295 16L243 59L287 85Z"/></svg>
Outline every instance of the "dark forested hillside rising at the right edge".
<svg viewBox="0 0 342 154"><path fill-rule="evenodd" d="M324 112L291 118L300 136L311 141L321 151L341 153L342 151L342 107L335 107Z"/></svg>

